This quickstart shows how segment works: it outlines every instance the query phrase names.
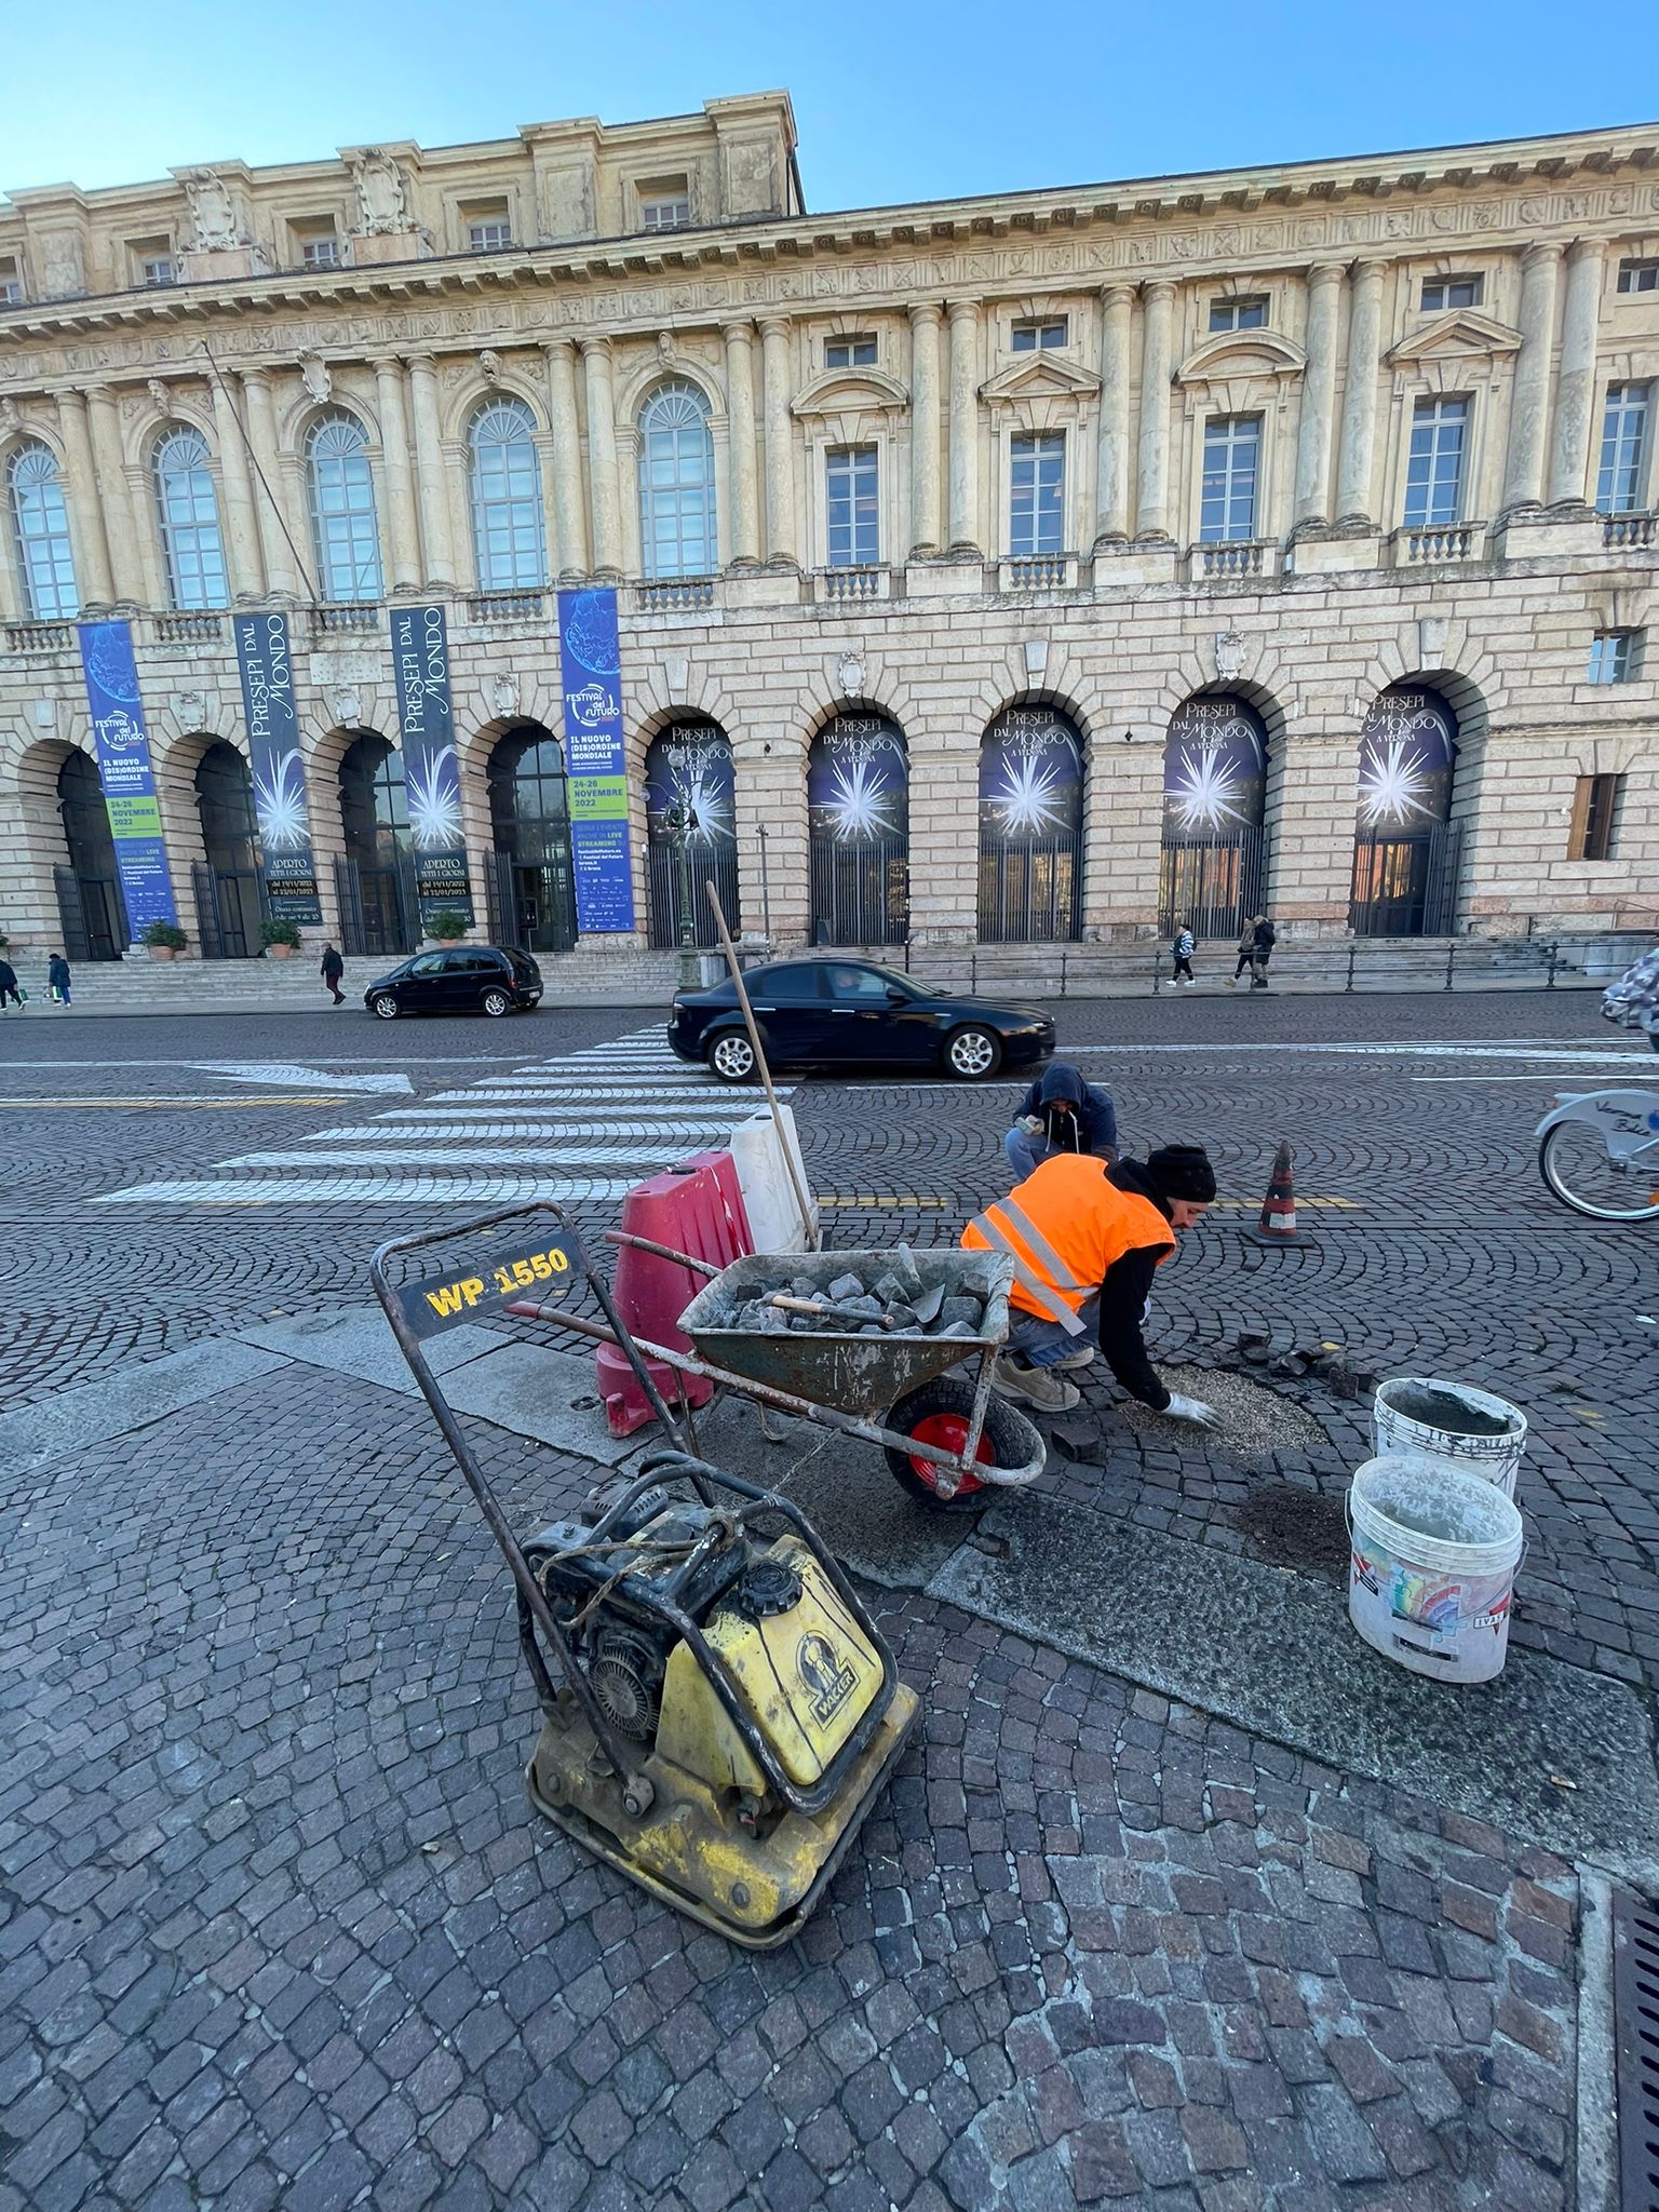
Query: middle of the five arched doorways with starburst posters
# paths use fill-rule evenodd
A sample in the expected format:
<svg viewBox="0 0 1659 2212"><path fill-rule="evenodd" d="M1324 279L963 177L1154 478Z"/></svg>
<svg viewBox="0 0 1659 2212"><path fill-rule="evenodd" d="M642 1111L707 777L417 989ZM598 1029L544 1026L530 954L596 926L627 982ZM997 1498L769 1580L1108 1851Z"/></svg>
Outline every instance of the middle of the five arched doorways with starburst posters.
<svg viewBox="0 0 1659 2212"><path fill-rule="evenodd" d="M980 743L980 945L1075 938L1084 920L1084 739L1011 706Z"/></svg>

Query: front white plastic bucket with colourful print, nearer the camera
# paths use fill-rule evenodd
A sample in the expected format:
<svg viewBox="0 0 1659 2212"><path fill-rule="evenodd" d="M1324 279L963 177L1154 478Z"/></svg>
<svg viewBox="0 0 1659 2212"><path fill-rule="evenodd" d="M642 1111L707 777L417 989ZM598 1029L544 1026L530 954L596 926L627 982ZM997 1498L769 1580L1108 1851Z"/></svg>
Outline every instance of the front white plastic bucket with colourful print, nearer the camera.
<svg viewBox="0 0 1659 2212"><path fill-rule="evenodd" d="M1347 1489L1347 1613L1374 1650L1436 1681L1491 1681L1526 1537L1493 1482L1391 1453Z"/></svg>

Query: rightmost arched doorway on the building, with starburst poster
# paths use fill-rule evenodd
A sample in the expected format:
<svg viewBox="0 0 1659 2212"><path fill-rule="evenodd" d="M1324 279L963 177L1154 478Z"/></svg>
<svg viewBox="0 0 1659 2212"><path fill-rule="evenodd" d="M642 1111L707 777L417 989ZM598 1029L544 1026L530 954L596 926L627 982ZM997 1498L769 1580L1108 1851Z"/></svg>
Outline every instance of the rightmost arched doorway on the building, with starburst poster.
<svg viewBox="0 0 1659 2212"><path fill-rule="evenodd" d="M1440 692L1394 684L1360 730L1349 929L1442 938L1458 914L1460 825L1451 821L1458 717Z"/></svg>

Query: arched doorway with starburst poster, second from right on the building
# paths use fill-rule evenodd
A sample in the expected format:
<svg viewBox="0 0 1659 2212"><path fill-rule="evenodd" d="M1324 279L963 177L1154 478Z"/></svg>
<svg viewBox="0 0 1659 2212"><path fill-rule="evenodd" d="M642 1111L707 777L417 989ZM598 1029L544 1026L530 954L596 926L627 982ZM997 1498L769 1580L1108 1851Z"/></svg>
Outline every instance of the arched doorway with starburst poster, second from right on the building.
<svg viewBox="0 0 1659 2212"><path fill-rule="evenodd" d="M1159 929L1232 938L1261 914L1267 730L1230 692L1203 692L1170 714L1164 743Z"/></svg>

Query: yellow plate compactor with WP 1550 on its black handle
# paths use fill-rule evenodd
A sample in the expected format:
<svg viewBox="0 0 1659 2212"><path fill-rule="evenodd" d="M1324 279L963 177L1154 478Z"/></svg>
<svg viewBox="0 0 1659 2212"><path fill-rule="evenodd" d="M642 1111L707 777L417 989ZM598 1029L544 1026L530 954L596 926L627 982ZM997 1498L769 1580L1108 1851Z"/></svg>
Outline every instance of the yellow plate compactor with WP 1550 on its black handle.
<svg viewBox="0 0 1659 2212"><path fill-rule="evenodd" d="M422 1272L434 1248L467 1265ZM896 1765L918 1699L803 1515L690 1449L653 1451L568 1520L513 1535L425 1343L586 1287L679 1447L557 1206L403 1237L369 1267L409 1369L513 1573L542 1705L533 1805L653 1896L770 1949L799 1933ZM549 1666L557 1663L557 1681Z"/></svg>

